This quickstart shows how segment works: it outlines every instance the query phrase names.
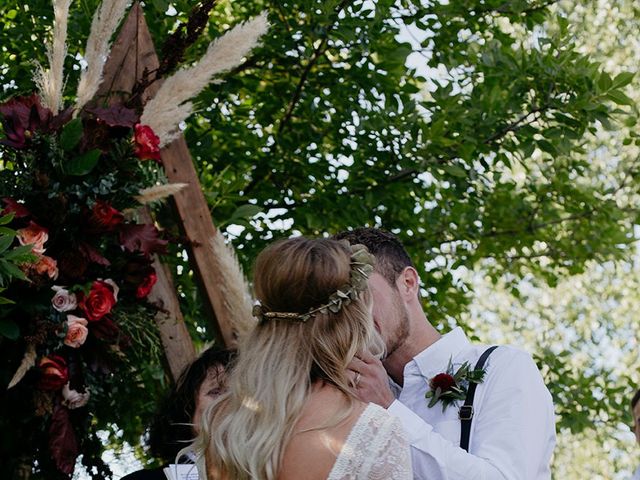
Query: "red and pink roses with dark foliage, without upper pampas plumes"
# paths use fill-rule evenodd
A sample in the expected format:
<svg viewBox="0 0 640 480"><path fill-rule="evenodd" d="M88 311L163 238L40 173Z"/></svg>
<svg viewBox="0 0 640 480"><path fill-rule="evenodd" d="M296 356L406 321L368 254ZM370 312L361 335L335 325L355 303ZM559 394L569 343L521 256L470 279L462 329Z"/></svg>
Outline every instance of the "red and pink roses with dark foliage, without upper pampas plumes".
<svg viewBox="0 0 640 480"><path fill-rule="evenodd" d="M0 322L24 349L8 387L32 389L34 413L55 425L49 443L65 473L79 452L69 413L87 404L95 374L118 369L131 343L118 317L152 323L152 254L167 243L133 213L140 191L161 178L158 137L122 106L70 113L54 115L37 95L0 105L2 214L13 244L32 254L3 271L13 275Z"/></svg>

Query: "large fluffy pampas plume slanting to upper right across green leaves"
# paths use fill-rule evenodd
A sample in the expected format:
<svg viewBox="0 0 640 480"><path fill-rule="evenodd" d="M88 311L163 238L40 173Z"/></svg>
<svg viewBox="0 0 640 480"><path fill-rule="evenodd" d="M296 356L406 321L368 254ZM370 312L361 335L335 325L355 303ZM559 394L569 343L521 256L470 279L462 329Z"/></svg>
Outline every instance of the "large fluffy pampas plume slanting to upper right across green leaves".
<svg viewBox="0 0 640 480"><path fill-rule="evenodd" d="M178 136L178 125L193 111L190 98L198 95L212 78L240 64L267 31L266 13L237 25L209 44L200 61L192 67L179 70L160 87L147 103L140 123L149 125L165 146Z"/></svg>

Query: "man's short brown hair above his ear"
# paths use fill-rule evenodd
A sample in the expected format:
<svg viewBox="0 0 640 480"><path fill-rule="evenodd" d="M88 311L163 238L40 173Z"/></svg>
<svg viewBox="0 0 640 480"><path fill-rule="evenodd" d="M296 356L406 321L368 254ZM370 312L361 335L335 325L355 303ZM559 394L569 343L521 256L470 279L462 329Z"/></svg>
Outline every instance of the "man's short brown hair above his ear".
<svg viewBox="0 0 640 480"><path fill-rule="evenodd" d="M336 240L347 240L350 244L362 244L376 257L375 271L389 285L395 287L398 275L406 267L414 267L409 254L398 237L378 228L356 228L334 235ZM415 268L415 267L414 267Z"/></svg>

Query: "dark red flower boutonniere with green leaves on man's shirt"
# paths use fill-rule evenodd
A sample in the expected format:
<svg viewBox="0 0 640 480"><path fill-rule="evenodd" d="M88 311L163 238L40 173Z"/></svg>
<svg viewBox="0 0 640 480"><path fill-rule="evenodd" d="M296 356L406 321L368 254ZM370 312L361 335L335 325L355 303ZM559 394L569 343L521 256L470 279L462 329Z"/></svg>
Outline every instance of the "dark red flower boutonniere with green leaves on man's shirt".
<svg viewBox="0 0 640 480"><path fill-rule="evenodd" d="M469 383L482 383L485 373L484 368L472 369L469 362L464 362L454 372L453 363L449 360L446 371L429 380L431 390L424 395L429 399L429 408L442 402L442 411L444 412L452 403L464 400L467 398Z"/></svg>

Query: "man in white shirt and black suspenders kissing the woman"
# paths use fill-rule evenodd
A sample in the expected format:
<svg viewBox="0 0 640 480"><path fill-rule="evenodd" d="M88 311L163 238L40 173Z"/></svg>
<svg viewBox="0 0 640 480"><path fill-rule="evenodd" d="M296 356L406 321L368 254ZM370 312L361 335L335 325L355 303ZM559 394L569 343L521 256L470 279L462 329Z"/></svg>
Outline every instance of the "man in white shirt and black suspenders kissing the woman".
<svg viewBox="0 0 640 480"><path fill-rule="evenodd" d="M401 419L411 444L414 478L551 478L553 404L531 356L511 346L486 353L486 363L478 369L484 379L477 384L472 406L460 410L461 398L470 403L468 388L458 382L461 397L453 400L449 374L463 375L459 369L465 362L473 370L487 346L470 343L461 328L440 335L429 324L420 303L418 273L395 236L359 228L335 238L361 243L376 256L369 286L387 356L380 362L365 353L349 368L361 400ZM461 418L470 423L470 429L465 427L470 435L467 449L461 448Z"/></svg>

